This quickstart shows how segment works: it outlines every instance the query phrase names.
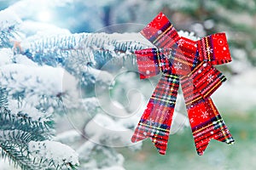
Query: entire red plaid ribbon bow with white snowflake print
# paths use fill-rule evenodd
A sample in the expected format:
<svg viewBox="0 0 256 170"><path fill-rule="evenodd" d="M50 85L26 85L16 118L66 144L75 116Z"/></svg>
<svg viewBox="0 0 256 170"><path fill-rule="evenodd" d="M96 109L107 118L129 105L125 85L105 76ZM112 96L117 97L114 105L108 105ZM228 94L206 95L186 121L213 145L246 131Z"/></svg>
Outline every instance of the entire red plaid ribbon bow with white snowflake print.
<svg viewBox="0 0 256 170"><path fill-rule="evenodd" d="M160 72L163 74L131 141L150 138L160 154L166 154L177 90L181 83L198 155L203 155L211 139L233 144L234 139L210 98L226 80L212 65L231 61L225 34L212 34L198 41L179 37L162 13L141 34L157 48L136 51L140 78L154 77Z"/></svg>

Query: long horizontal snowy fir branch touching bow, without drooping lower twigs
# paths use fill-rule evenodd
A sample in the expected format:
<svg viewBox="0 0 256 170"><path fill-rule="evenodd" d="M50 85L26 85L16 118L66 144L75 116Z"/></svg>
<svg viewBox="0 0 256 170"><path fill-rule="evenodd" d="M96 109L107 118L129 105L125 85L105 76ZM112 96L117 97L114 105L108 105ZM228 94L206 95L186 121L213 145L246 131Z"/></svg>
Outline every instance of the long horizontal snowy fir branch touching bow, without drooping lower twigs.
<svg viewBox="0 0 256 170"><path fill-rule="evenodd" d="M127 38L129 36L137 37L137 40ZM80 33L39 40L28 38L21 42L20 46L23 54L41 65L65 65L67 59L73 57L83 59L87 65L97 62L96 55L102 56L100 60L105 63L109 58L122 53L132 54L135 50L146 48L150 44L137 33Z"/></svg>

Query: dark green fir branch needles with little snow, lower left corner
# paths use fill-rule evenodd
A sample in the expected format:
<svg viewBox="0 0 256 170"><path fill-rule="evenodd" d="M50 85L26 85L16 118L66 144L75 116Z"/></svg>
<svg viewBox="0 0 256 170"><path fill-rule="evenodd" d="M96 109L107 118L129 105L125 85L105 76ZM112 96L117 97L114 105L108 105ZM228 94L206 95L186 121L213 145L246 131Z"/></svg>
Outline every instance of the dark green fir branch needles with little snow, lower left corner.
<svg viewBox="0 0 256 170"><path fill-rule="evenodd" d="M31 118L22 112L12 114L7 108L7 96L4 89L0 92L0 148L3 158L9 158L15 167L24 170L41 169L45 162L50 161L43 160L43 158L37 162L32 160L28 144L31 141L49 139L51 123L40 122L40 120L31 121Z"/></svg>

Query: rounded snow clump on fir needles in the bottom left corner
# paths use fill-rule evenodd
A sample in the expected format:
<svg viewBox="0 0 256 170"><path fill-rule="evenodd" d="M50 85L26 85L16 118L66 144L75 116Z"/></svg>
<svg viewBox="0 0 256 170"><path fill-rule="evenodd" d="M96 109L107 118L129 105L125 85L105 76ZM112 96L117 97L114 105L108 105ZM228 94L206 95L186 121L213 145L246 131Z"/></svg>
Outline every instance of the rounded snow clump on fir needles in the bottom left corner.
<svg viewBox="0 0 256 170"><path fill-rule="evenodd" d="M55 165L71 163L79 166L79 155L75 150L60 142L45 140L42 142L31 141L28 150L37 160L46 159L55 162Z"/></svg>

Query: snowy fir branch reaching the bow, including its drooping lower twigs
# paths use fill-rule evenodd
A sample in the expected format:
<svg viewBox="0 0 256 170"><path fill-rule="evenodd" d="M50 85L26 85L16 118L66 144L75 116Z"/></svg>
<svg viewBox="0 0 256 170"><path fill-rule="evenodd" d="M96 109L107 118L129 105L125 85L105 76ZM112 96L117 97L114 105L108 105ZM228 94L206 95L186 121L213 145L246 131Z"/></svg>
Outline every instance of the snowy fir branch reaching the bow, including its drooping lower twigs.
<svg viewBox="0 0 256 170"><path fill-rule="evenodd" d="M85 85L95 83L95 69L108 61L125 65L126 61L135 61L135 50L150 46L138 33L80 33L41 39L34 36L20 43L27 58L39 65L61 65Z"/></svg>

